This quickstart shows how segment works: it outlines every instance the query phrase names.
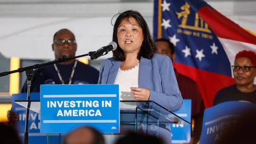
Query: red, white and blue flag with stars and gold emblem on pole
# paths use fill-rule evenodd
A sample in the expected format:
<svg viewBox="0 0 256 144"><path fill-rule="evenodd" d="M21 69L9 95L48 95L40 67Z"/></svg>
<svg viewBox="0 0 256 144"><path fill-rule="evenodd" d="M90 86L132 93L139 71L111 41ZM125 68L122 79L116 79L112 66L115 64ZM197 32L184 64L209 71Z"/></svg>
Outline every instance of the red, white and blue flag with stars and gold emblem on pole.
<svg viewBox="0 0 256 144"><path fill-rule="evenodd" d="M242 50L256 52L256 37L201 0L155 0L154 39L176 46L174 67L195 80L206 108L234 83L231 65Z"/></svg>

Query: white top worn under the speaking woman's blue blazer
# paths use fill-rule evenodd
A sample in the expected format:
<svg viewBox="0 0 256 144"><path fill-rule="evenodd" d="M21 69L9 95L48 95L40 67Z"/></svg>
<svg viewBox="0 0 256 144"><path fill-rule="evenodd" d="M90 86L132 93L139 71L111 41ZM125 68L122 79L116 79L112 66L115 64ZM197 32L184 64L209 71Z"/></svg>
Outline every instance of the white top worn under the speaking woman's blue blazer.
<svg viewBox="0 0 256 144"><path fill-rule="evenodd" d="M133 98L131 87L138 87L139 81L139 64L129 70L121 70L119 68L114 84L119 84L119 100L120 101L137 101ZM135 108L136 105L127 105L120 103L122 108Z"/></svg>

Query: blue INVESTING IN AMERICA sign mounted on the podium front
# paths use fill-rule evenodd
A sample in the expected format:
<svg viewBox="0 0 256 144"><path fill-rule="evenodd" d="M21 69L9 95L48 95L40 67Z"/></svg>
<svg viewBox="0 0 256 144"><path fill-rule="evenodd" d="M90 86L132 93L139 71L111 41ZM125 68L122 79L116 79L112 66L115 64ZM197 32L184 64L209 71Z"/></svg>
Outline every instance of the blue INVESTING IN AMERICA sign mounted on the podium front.
<svg viewBox="0 0 256 144"><path fill-rule="evenodd" d="M41 133L68 133L91 126L119 133L118 85L41 85Z"/></svg>

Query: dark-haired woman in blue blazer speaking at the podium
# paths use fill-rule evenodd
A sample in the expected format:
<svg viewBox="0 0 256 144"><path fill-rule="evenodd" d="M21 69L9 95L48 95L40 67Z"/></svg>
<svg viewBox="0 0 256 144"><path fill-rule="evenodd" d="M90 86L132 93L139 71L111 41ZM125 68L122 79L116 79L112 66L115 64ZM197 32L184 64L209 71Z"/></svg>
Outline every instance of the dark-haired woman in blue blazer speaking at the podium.
<svg viewBox="0 0 256 144"><path fill-rule="evenodd" d="M172 61L154 54L156 46L143 16L132 10L120 13L114 24L113 41L117 49L112 58L102 61L98 83L119 84L120 100L150 100L178 111L183 100ZM169 129L166 125L159 131L165 143L171 143Z"/></svg>

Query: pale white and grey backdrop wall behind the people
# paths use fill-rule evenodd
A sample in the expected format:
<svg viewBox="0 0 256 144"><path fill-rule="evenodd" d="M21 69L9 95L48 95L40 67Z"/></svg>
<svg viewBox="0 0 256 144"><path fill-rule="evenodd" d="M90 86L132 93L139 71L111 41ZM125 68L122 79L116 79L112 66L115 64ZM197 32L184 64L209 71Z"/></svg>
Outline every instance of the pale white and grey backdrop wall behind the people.
<svg viewBox="0 0 256 144"><path fill-rule="evenodd" d="M256 2L208 2L243 28L256 33ZM95 51L111 41L113 15L128 9L140 11L153 32L153 0L0 0L0 53L5 57L53 59L52 37L62 28L74 32L77 55Z"/></svg>

